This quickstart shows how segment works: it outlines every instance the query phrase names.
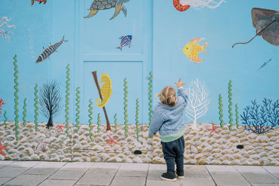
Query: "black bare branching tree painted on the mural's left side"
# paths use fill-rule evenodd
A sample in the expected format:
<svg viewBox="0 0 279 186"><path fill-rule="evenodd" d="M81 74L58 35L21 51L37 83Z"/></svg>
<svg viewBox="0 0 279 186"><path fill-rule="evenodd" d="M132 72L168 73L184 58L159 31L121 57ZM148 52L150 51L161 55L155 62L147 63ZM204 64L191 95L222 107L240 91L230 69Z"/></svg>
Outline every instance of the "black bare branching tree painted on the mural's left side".
<svg viewBox="0 0 279 186"><path fill-rule="evenodd" d="M40 88L40 111L48 119L47 129L53 126L52 118L61 109L61 95L59 93L59 86L52 81Z"/></svg>

